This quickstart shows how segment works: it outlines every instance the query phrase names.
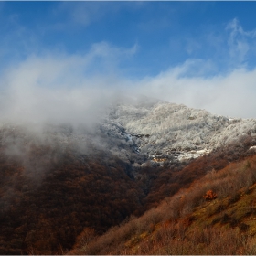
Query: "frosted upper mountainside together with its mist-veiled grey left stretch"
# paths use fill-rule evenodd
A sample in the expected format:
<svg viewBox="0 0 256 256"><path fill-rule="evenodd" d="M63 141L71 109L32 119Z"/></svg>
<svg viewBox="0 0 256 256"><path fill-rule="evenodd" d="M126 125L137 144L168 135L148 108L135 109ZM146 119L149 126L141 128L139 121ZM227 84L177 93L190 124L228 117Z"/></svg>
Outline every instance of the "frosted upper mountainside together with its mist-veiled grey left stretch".
<svg viewBox="0 0 256 256"><path fill-rule="evenodd" d="M105 157L116 156L133 166L183 162L244 135L255 136L256 144L255 119L231 119L151 99L112 104L93 129L71 124L48 124L39 130L0 125L0 143L7 154L24 157L31 144L50 144L58 145L60 152L72 148L79 155L105 152Z"/></svg>

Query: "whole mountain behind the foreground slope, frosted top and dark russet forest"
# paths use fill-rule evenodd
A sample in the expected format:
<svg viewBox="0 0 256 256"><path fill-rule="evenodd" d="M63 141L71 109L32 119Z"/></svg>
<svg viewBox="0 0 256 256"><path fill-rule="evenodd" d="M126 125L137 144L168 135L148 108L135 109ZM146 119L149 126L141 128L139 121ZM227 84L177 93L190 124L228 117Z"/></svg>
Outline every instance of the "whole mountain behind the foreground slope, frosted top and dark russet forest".
<svg viewBox="0 0 256 256"><path fill-rule="evenodd" d="M102 234L255 153L254 119L143 96L112 99L85 118L89 125L1 123L2 254L70 250L82 229Z"/></svg>

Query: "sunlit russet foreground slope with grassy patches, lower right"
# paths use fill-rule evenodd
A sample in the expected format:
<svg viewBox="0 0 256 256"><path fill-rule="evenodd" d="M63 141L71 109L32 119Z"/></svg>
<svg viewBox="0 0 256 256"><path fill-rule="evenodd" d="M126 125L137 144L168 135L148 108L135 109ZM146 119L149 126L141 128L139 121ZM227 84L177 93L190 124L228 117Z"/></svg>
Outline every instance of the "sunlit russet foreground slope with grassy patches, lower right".
<svg viewBox="0 0 256 256"><path fill-rule="evenodd" d="M212 171L70 254L255 254L256 156ZM207 197L213 191L217 198ZM207 193L208 192L208 193ZM207 199L207 200L206 200Z"/></svg>

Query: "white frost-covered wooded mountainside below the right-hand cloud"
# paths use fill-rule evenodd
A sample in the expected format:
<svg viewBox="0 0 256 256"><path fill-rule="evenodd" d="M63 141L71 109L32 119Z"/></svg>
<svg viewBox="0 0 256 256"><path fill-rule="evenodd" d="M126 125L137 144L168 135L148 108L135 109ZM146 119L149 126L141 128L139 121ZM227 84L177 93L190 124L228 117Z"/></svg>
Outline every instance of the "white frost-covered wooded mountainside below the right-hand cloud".
<svg viewBox="0 0 256 256"><path fill-rule="evenodd" d="M197 158L241 136L256 136L256 120L231 119L164 101L117 104L102 124L133 152L155 162Z"/></svg>

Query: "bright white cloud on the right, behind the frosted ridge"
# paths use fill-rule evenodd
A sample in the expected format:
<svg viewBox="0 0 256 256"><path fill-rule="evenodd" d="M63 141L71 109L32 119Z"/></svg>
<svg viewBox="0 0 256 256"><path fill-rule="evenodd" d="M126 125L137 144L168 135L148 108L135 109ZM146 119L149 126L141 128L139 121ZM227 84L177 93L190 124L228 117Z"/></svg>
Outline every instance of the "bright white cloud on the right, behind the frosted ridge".
<svg viewBox="0 0 256 256"><path fill-rule="evenodd" d="M196 60L194 60L195 62ZM199 61L203 67L204 63ZM138 87L147 96L206 109L220 115L256 118L256 69L234 69L226 75L186 76L191 63L169 69Z"/></svg>

